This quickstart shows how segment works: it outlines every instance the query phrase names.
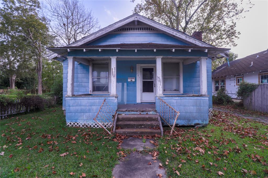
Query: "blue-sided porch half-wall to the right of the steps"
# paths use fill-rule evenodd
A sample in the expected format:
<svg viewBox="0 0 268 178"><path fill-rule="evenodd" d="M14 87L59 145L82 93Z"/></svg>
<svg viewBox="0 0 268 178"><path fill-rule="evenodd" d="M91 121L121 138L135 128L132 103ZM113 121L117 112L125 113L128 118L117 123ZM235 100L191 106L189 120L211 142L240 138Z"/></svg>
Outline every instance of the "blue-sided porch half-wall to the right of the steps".
<svg viewBox="0 0 268 178"><path fill-rule="evenodd" d="M204 96L162 96L165 102L180 111L176 124L197 125L209 122L209 97ZM156 110L160 112L160 100L155 98Z"/></svg>

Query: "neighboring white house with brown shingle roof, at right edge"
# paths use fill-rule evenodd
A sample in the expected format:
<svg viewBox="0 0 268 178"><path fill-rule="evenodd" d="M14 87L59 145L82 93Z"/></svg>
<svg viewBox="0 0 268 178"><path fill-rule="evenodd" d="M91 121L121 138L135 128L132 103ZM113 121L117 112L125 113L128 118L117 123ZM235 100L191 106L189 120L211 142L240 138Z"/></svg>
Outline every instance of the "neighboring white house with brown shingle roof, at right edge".
<svg viewBox="0 0 268 178"><path fill-rule="evenodd" d="M268 83L268 49L235 61L222 64L212 72L212 94L224 87L226 93L237 98L236 92L239 83Z"/></svg>

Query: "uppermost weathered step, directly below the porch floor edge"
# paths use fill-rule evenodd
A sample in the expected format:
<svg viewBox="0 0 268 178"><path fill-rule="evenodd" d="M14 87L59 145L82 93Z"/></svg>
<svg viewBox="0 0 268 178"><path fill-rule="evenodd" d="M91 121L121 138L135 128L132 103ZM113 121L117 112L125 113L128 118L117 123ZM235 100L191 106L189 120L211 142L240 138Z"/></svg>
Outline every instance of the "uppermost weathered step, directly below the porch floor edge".
<svg viewBox="0 0 268 178"><path fill-rule="evenodd" d="M157 114L125 114L117 115L117 121L158 121Z"/></svg>

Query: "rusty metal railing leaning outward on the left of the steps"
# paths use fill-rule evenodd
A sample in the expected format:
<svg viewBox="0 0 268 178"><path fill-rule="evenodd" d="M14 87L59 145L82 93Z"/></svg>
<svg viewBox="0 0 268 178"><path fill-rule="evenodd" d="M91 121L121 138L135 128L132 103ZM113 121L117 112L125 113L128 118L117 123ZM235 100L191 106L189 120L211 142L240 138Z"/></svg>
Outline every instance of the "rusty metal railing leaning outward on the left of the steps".
<svg viewBox="0 0 268 178"><path fill-rule="evenodd" d="M98 123L99 126L101 126L106 132L108 132L110 135L113 129L114 125L114 118L116 116L116 111L114 111L106 102L106 99L103 100L101 107L94 118L94 121ZM101 121L101 122L99 122ZM111 123L111 124L110 124ZM107 130L106 127L111 127L111 131Z"/></svg>

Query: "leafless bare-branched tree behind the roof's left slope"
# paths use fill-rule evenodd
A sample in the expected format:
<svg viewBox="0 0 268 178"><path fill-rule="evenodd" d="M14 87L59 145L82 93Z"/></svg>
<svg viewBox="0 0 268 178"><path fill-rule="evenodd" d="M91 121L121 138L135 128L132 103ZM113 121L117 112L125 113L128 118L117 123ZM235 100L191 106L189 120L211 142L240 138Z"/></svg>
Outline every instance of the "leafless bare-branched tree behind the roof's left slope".
<svg viewBox="0 0 268 178"><path fill-rule="evenodd" d="M79 0L46 0L44 16L49 19L51 33L57 36L57 45L65 46L100 29L92 10Z"/></svg>

